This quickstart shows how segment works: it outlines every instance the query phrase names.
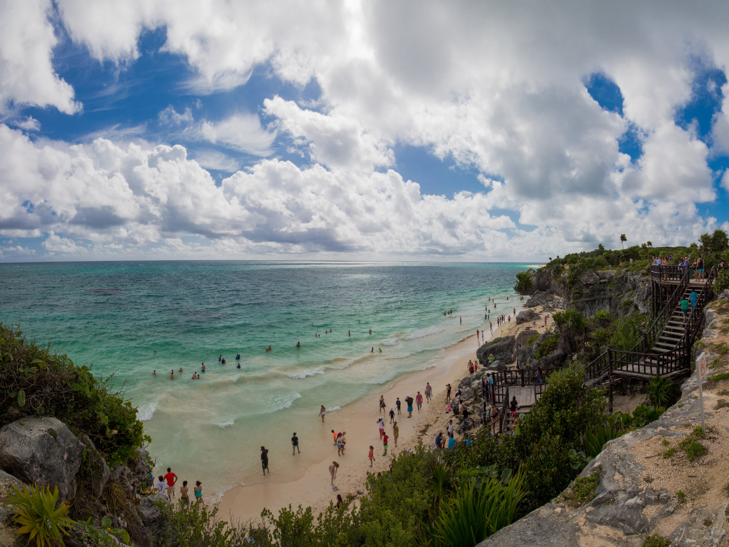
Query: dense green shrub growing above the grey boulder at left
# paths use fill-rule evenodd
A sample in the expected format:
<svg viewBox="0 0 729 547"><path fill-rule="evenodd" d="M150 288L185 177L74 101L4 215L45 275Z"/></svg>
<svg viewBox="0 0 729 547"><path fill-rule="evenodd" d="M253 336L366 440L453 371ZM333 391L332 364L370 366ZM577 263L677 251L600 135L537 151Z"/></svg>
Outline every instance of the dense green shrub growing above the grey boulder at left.
<svg viewBox="0 0 729 547"><path fill-rule="evenodd" d="M109 465L126 462L144 441L136 408L90 369L66 355L26 340L19 328L0 322L0 415L12 421L12 409L53 416L76 435L86 434Z"/></svg>

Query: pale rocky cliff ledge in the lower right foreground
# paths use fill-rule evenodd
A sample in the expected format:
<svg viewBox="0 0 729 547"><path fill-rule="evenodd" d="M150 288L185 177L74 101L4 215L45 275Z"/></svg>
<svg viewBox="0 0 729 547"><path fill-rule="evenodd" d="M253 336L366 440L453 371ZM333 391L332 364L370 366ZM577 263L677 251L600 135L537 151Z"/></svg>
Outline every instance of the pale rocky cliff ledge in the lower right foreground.
<svg viewBox="0 0 729 547"><path fill-rule="evenodd" d="M660 419L607 443L552 503L478 547L642 546L654 534L673 547L729 541L729 373L722 373L729 372L729 300L709 308L698 343L713 374L703 385L706 433L695 430L701 418L691 376Z"/></svg>

